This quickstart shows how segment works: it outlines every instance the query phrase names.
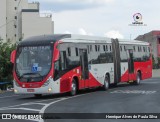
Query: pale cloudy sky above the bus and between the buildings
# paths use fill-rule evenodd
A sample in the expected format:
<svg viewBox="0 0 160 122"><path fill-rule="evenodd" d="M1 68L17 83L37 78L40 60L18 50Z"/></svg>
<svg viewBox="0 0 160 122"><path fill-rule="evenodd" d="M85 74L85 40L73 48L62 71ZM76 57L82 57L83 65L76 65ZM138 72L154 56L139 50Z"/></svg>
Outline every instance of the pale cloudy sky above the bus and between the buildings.
<svg viewBox="0 0 160 122"><path fill-rule="evenodd" d="M33 2L34 0L28 0ZM41 13L52 13L55 33L134 39L160 30L159 0L36 0ZM141 13L147 26L129 26Z"/></svg>

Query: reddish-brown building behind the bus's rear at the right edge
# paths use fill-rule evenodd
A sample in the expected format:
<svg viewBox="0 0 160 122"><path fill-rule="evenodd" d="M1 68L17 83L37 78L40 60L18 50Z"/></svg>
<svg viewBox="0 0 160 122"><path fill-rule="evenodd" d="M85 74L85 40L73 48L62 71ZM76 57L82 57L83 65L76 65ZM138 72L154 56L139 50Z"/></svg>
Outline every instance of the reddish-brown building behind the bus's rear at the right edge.
<svg viewBox="0 0 160 122"><path fill-rule="evenodd" d="M160 57L160 31L151 31L144 35L139 35L136 40L146 41L151 44L152 54L157 63L157 58Z"/></svg>

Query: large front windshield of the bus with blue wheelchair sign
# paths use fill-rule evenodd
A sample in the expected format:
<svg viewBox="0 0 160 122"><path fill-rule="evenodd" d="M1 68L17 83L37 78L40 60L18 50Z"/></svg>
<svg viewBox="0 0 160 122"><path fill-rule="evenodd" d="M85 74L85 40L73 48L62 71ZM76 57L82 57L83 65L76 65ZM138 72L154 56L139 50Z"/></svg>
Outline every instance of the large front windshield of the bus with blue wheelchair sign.
<svg viewBox="0 0 160 122"><path fill-rule="evenodd" d="M51 68L51 46L19 47L16 55L16 74L20 81L41 81Z"/></svg>

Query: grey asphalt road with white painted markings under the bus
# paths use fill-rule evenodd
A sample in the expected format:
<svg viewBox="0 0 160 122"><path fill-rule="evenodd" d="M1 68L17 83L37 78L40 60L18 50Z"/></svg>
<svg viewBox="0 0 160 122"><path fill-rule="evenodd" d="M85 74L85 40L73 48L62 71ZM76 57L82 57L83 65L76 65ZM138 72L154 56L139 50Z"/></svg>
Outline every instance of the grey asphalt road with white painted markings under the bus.
<svg viewBox="0 0 160 122"><path fill-rule="evenodd" d="M92 89L81 91L76 96L45 95L35 98L33 95L15 95L13 92L0 94L0 113L159 113L160 114L160 78L144 80L140 85L119 84L108 91ZM64 114L65 115L65 114ZM91 115L95 117L96 115ZM0 120L5 121L5 120ZM9 120L6 120L7 122ZM18 120L12 120L18 121ZM19 122L34 120L19 120ZM150 122L147 119L60 119L41 120L41 122Z"/></svg>

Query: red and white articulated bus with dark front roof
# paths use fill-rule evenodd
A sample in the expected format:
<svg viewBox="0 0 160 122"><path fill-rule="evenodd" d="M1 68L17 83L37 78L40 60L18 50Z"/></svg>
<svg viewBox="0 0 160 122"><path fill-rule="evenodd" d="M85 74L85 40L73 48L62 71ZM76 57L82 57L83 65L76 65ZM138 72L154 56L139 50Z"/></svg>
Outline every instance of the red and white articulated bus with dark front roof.
<svg viewBox="0 0 160 122"><path fill-rule="evenodd" d="M150 44L72 34L23 40L11 54L16 94L54 94L152 77Z"/></svg>

